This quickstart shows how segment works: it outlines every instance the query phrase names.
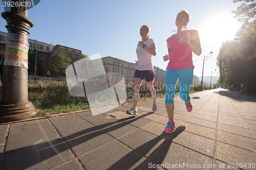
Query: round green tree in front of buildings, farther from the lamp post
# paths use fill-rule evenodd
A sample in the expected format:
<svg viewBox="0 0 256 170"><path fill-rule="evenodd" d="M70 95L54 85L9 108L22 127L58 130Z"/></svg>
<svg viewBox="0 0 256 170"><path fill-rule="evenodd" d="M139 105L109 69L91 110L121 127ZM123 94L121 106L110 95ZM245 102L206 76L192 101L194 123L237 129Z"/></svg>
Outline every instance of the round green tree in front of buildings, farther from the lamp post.
<svg viewBox="0 0 256 170"><path fill-rule="evenodd" d="M57 57L52 59L50 64L53 70L53 74L56 76L65 77L66 68L70 65L71 62L72 60L68 58L65 53L57 53Z"/></svg>

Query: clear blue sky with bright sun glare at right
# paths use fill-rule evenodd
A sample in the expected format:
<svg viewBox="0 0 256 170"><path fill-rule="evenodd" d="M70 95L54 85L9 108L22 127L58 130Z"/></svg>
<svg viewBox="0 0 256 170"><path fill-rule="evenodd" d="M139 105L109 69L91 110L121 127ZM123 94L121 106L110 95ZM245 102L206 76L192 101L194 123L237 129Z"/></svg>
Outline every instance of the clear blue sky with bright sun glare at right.
<svg viewBox="0 0 256 170"><path fill-rule="evenodd" d="M166 39L175 34L176 15L185 9L192 15L187 29L198 30L202 47L200 56L193 53L194 75L202 76L203 58L213 52L204 63L204 76L217 76L221 44L232 40L242 26L231 13L240 4L232 0L43 0L28 10L28 18L35 25L28 38L76 48L89 56L100 54L135 63L140 27L147 25L157 46L153 65L166 70ZM3 6L0 12L4 12ZM6 25L1 17L0 31L7 32Z"/></svg>

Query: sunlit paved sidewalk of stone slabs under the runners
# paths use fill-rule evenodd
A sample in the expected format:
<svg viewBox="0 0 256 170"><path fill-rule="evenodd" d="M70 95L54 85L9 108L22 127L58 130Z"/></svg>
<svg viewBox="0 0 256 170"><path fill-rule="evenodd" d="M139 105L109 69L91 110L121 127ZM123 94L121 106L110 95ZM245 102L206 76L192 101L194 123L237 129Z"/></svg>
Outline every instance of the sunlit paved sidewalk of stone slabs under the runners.
<svg viewBox="0 0 256 170"><path fill-rule="evenodd" d="M256 97L196 92L191 112L176 98L173 134L152 103L0 124L0 169L256 169Z"/></svg>

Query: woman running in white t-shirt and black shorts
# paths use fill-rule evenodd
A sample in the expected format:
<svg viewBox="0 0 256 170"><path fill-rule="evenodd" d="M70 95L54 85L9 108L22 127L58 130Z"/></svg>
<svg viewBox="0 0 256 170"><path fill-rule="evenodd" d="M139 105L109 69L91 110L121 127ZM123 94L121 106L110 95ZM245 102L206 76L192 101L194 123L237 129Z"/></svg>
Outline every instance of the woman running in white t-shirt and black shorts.
<svg viewBox="0 0 256 170"><path fill-rule="evenodd" d="M152 64L152 55L156 56L156 44L153 39L150 38L150 28L143 25L140 28L140 36L142 41L138 42L136 53L138 61L136 61L136 70L134 74L134 90L133 90L133 107L131 110L126 111L127 114L138 114L137 104L139 101L139 89L140 85L145 78L148 89L153 97L153 111L157 110L156 90L154 84L154 67Z"/></svg>

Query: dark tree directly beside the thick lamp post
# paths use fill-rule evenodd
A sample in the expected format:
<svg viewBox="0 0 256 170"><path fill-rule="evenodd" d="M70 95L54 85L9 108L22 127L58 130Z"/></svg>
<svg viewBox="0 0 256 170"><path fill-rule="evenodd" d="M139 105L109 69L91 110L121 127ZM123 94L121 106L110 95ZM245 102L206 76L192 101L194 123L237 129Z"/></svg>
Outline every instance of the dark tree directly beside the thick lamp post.
<svg viewBox="0 0 256 170"><path fill-rule="evenodd" d="M44 68L44 64L42 60L40 59L40 52L37 51L37 57L36 57L36 73L38 76L41 76L42 69ZM36 55L36 49L29 50L28 53L28 74L34 75L35 74L35 55Z"/></svg>

